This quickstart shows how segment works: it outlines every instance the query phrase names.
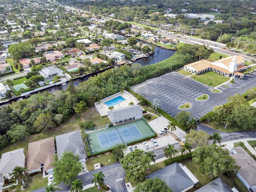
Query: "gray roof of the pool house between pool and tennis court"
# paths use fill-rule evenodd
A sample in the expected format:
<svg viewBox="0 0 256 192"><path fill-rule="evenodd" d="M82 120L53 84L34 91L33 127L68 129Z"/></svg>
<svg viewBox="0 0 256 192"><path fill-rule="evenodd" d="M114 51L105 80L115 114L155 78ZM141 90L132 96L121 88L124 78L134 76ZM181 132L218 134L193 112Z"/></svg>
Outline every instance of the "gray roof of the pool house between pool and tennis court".
<svg viewBox="0 0 256 192"><path fill-rule="evenodd" d="M142 109L139 105L108 111L108 117L110 118L111 122L119 122L136 116L142 116Z"/></svg>

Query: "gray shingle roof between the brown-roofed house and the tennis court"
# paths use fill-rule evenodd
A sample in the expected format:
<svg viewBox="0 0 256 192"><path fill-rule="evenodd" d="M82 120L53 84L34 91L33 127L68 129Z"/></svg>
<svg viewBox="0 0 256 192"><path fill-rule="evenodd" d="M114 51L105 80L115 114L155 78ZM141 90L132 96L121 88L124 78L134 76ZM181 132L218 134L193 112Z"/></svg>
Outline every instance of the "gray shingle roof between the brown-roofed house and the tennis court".
<svg viewBox="0 0 256 192"><path fill-rule="evenodd" d="M59 159L63 152L68 151L72 151L74 155L79 155L80 160L86 158L84 145L79 131L56 136L56 145Z"/></svg>

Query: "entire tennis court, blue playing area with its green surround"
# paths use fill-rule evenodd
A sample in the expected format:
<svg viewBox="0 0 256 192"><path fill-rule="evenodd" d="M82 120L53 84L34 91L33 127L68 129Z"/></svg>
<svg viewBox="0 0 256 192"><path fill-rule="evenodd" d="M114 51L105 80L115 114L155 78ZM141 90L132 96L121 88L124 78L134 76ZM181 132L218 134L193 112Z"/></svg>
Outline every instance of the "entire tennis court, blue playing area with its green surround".
<svg viewBox="0 0 256 192"><path fill-rule="evenodd" d="M110 128L87 132L90 152L94 154L108 150L116 144L127 144L154 136L155 132L153 130L152 132L151 129L144 120L137 120Z"/></svg>

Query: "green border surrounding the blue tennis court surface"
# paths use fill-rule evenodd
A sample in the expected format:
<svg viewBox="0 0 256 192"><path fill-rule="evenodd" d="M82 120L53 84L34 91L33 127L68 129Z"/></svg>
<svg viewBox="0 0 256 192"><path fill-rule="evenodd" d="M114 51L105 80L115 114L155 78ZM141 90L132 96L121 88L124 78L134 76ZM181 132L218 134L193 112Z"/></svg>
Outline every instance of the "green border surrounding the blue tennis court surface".
<svg viewBox="0 0 256 192"><path fill-rule="evenodd" d="M113 126L113 127L110 127L110 128L105 128L105 129L102 129L102 130L90 132L90 133L87 133L88 134L87 140L88 140L88 144L89 144L91 154L106 151L106 150L108 150L108 149L110 149L110 148L112 148L116 145L116 144L113 144L113 145L102 148L101 145L100 145L100 141L98 140L97 134L108 132L108 131L111 131L111 130L116 130L116 128L118 129L118 128L123 128L123 127L131 126L131 125L136 125L136 127L138 128L138 130L140 131L142 136L138 137L138 138L128 140L125 143L121 142L120 144L127 144L127 143L130 143L130 142L142 140L143 138L148 138L150 136L154 136L154 134L155 134L154 132L151 131L152 128L148 125L148 123L146 121L142 120L142 119L141 120L136 120L136 121L133 121L133 122L128 122L128 123L121 124L121 125L117 125L117 126Z"/></svg>

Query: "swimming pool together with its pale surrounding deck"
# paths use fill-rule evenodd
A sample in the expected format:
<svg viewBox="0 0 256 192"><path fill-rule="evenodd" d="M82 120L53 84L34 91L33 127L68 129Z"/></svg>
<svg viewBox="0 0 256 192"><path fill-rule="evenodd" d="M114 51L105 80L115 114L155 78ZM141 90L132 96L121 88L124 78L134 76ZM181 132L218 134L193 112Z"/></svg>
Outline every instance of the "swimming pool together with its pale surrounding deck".
<svg viewBox="0 0 256 192"><path fill-rule="evenodd" d="M138 104L138 100L129 92L119 92L108 98L102 99L100 103L96 102L94 106L97 108L101 116L108 115L109 107L114 106L114 109L128 107L129 103Z"/></svg>

